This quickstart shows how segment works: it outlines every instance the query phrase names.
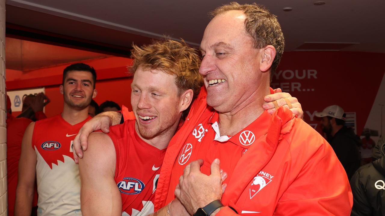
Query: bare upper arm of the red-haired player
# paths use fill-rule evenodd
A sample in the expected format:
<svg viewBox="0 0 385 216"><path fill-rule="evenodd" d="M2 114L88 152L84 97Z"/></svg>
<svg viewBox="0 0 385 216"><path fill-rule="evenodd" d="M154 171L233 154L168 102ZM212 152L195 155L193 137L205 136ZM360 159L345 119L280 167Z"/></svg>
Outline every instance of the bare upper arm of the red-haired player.
<svg viewBox="0 0 385 216"><path fill-rule="evenodd" d="M116 155L112 140L101 132L91 133L89 148L79 160L82 214L122 215L122 200L116 186Z"/></svg>

